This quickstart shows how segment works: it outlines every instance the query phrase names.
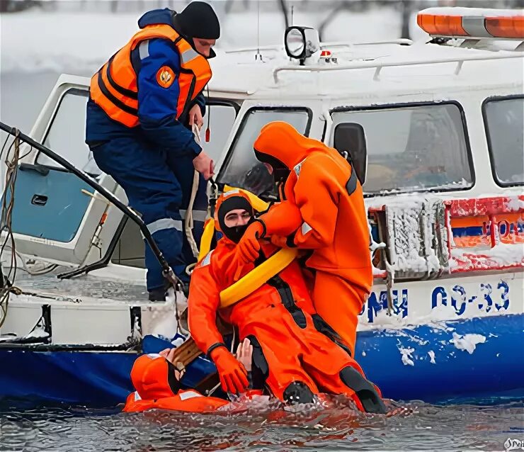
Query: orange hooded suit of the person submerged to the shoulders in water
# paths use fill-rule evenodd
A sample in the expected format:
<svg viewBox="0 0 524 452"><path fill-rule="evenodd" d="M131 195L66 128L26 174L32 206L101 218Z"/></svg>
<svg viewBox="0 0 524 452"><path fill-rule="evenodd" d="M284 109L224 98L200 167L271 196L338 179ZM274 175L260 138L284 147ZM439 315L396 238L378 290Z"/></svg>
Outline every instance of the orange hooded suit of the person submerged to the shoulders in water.
<svg viewBox="0 0 524 452"><path fill-rule="evenodd" d="M151 354L137 358L131 369L135 392L127 396L124 412L146 409L173 409L188 412L214 412L229 402L205 397L195 390L181 390L175 366L163 356Z"/></svg>

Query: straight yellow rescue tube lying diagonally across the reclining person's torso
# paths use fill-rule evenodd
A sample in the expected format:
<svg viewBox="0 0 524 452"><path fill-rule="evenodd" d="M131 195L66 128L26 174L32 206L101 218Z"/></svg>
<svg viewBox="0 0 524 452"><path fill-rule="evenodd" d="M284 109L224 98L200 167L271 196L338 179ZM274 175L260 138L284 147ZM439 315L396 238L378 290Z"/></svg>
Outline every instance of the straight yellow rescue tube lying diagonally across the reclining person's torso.
<svg viewBox="0 0 524 452"><path fill-rule="evenodd" d="M269 259L240 278L239 281L220 292L220 307L234 305L256 289L261 288L270 278L273 278L291 264L297 257L297 253L296 248L283 248L270 256Z"/></svg>

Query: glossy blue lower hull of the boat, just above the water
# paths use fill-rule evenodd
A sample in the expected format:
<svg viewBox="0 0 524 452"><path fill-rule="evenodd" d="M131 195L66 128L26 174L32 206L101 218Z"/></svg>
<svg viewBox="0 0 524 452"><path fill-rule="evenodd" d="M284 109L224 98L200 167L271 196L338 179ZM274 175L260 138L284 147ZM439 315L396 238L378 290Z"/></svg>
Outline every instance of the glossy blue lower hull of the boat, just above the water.
<svg viewBox="0 0 524 452"><path fill-rule="evenodd" d="M485 337L471 354L453 342L466 334ZM479 397L524 398L522 344L524 314L500 315L359 332L355 354L387 398L461 402ZM166 343L153 338L144 339L143 345L144 351L152 352ZM132 391L129 375L135 353L4 347L0 348L0 398L107 407L124 402ZM404 361L401 350L409 351ZM200 357L183 383L191 386L213 368Z"/></svg>

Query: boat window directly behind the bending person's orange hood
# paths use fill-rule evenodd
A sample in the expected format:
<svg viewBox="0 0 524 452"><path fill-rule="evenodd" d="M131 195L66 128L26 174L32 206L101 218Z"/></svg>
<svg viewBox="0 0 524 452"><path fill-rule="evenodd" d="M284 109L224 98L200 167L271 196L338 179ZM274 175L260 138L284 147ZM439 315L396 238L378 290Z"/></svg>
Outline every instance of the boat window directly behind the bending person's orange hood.
<svg viewBox="0 0 524 452"><path fill-rule="evenodd" d="M273 191L273 176L255 158L253 144L264 125L285 121L304 135L309 134L312 113L309 108L251 108L246 112L234 137L218 181L246 188L257 195Z"/></svg>

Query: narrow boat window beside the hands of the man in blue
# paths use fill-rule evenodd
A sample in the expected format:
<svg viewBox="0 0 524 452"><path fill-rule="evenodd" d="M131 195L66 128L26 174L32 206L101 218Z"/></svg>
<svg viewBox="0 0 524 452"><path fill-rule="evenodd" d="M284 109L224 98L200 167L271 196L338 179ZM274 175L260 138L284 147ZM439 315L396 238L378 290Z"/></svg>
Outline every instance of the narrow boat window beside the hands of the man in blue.
<svg viewBox="0 0 524 452"><path fill-rule="evenodd" d="M201 133L202 147L215 162L224 152L229 133L233 127L234 120L237 118L239 106L229 101L207 102L204 116L204 125ZM209 141L205 140L205 130L209 128Z"/></svg>

